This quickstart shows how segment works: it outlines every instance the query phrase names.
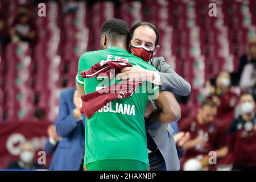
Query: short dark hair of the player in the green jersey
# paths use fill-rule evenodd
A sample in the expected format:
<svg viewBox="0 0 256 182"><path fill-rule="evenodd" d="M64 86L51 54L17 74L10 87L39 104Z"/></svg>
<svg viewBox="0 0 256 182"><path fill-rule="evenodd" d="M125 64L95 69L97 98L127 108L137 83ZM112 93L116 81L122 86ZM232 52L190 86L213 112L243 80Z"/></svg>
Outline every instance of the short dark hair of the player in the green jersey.
<svg viewBox="0 0 256 182"><path fill-rule="evenodd" d="M101 35L102 34L105 34L112 40L118 40L121 36L126 36L126 38L128 38L129 27L128 24L121 19L109 19L102 24Z"/></svg>

